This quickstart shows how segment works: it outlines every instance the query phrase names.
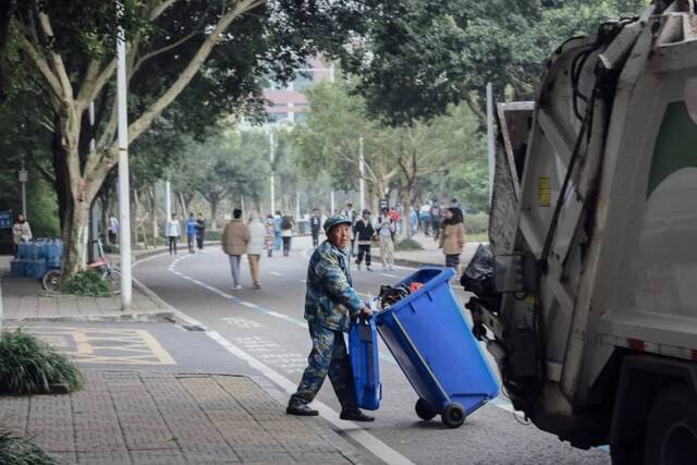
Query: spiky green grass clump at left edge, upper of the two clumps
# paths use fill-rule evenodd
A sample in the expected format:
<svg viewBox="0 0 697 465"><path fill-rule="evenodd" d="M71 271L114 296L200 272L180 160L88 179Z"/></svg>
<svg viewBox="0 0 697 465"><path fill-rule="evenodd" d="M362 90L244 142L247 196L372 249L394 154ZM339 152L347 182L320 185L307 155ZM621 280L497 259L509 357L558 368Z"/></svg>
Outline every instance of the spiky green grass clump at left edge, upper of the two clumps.
<svg viewBox="0 0 697 465"><path fill-rule="evenodd" d="M75 391L83 377L75 364L35 335L20 329L0 332L0 392L46 394L51 384Z"/></svg>

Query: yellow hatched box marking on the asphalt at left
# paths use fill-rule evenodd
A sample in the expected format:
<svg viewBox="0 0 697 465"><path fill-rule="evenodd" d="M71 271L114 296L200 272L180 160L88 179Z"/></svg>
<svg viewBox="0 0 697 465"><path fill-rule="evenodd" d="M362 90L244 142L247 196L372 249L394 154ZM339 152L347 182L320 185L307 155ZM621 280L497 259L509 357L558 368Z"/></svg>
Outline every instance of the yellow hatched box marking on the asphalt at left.
<svg viewBox="0 0 697 465"><path fill-rule="evenodd" d="M76 362L89 364L176 365L148 331L70 327L32 327L49 345Z"/></svg>

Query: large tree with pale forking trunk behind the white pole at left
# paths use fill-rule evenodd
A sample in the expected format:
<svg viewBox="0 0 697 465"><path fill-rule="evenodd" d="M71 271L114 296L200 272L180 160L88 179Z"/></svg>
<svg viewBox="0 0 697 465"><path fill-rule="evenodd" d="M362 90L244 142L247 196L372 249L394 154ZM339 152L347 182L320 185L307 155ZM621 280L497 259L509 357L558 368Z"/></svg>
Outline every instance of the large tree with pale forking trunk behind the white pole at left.
<svg viewBox="0 0 697 465"><path fill-rule="evenodd" d="M34 70L47 103L41 121L54 140L66 276L83 262L88 210L118 158L110 84L117 26L126 30L127 74L135 97L129 138L134 142L192 83L189 98L205 105L191 109L201 109L209 117L206 121L223 110L258 108L264 77L272 73L288 78L305 57L319 50L320 42L313 40L316 34L330 37L322 44L337 46L362 21L353 4L319 3L298 8L292 1L123 0L120 15L115 2L101 0L14 5L10 29L22 53L16 64ZM94 126L86 118L93 101ZM91 138L97 139L94 151Z"/></svg>

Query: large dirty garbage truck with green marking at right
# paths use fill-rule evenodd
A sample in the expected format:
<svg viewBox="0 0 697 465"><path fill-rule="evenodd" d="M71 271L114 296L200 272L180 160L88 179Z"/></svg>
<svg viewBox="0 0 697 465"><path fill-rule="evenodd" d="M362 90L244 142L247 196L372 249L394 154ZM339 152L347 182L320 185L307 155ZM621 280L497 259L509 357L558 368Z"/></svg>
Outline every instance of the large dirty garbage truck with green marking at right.
<svg viewBox="0 0 697 465"><path fill-rule="evenodd" d="M514 407L614 464L697 463L696 13L656 1L553 53L467 303Z"/></svg>

